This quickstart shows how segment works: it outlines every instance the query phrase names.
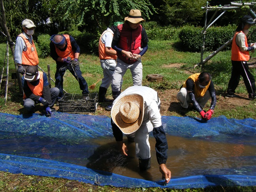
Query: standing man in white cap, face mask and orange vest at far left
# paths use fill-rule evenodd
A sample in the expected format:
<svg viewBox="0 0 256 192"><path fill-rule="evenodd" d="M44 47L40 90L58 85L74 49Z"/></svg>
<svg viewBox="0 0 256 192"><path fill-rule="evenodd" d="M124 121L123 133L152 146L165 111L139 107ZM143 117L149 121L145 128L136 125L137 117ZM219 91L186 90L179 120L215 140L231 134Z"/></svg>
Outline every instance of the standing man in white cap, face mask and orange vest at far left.
<svg viewBox="0 0 256 192"><path fill-rule="evenodd" d="M32 37L36 25L30 19L25 19L21 25L23 33L16 40L14 61L18 65L17 71L23 75L28 66L37 66L39 59Z"/></svg>

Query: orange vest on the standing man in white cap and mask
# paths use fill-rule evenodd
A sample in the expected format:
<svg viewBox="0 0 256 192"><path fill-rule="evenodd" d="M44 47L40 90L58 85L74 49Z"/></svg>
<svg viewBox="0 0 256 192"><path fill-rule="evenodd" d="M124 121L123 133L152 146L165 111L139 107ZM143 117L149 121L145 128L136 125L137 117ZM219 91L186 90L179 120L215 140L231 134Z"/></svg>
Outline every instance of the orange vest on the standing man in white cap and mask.
<svg viewBox="0 0 256 192"><path fill-rule="evenodd" d="M27 47L26 51L22 52L22 64L37 66L39 63L39 59L34 41L32 40L32 43L30 43L23 33L19 34L19 36L23 38Z"/></svg>

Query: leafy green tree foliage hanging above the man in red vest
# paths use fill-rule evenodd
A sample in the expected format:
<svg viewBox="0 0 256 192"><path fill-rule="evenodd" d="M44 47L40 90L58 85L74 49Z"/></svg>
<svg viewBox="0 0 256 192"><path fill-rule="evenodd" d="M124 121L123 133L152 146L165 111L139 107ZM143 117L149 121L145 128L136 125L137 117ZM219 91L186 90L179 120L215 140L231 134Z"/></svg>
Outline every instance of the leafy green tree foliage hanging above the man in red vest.
<svg viewBox="0 0 256 192"><path fill-rule="evenodd" d="M149 0L62 0L56 12L64 12L63 21L88 31L102 31L115 21L124 21L130 9L139 9L145 19L154 13Z"/></svg>

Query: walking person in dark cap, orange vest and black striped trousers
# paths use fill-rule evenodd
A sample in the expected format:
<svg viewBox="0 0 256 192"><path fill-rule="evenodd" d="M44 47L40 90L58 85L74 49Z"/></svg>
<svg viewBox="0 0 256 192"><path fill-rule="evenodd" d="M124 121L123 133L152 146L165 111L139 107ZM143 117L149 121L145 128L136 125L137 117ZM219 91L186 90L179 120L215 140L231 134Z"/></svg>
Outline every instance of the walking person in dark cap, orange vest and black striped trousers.
<svg viewBox="0 0 256 192"><path fill-rule="evenodd" d="M255 43L247 43L247 37L249 28L256 24L250 15L245 15L233 36L232 48L231 48L231 62L232 72L230 81L228 83L228 89L226 97L239 97L235 94L240 77L243 77L245 87L248 92L248 99L254 100L256 98L255 79L252 73L249 71L247 61L250 59L249 51L254 51L256 48Z"/></svg>

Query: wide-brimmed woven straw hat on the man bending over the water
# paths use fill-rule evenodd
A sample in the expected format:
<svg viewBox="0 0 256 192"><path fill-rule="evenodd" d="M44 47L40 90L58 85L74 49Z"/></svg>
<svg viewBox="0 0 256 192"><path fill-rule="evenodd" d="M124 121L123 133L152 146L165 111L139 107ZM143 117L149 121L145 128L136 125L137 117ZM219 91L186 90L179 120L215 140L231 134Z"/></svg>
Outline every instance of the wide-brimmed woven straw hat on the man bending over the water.
<svg viewBox="0 0 256 192"><path fill-rule="evenodd" d="M144 100L139 94L117 98L112 106L111 117L124 134L132 134L141 126L144 115Z"/></svg>

